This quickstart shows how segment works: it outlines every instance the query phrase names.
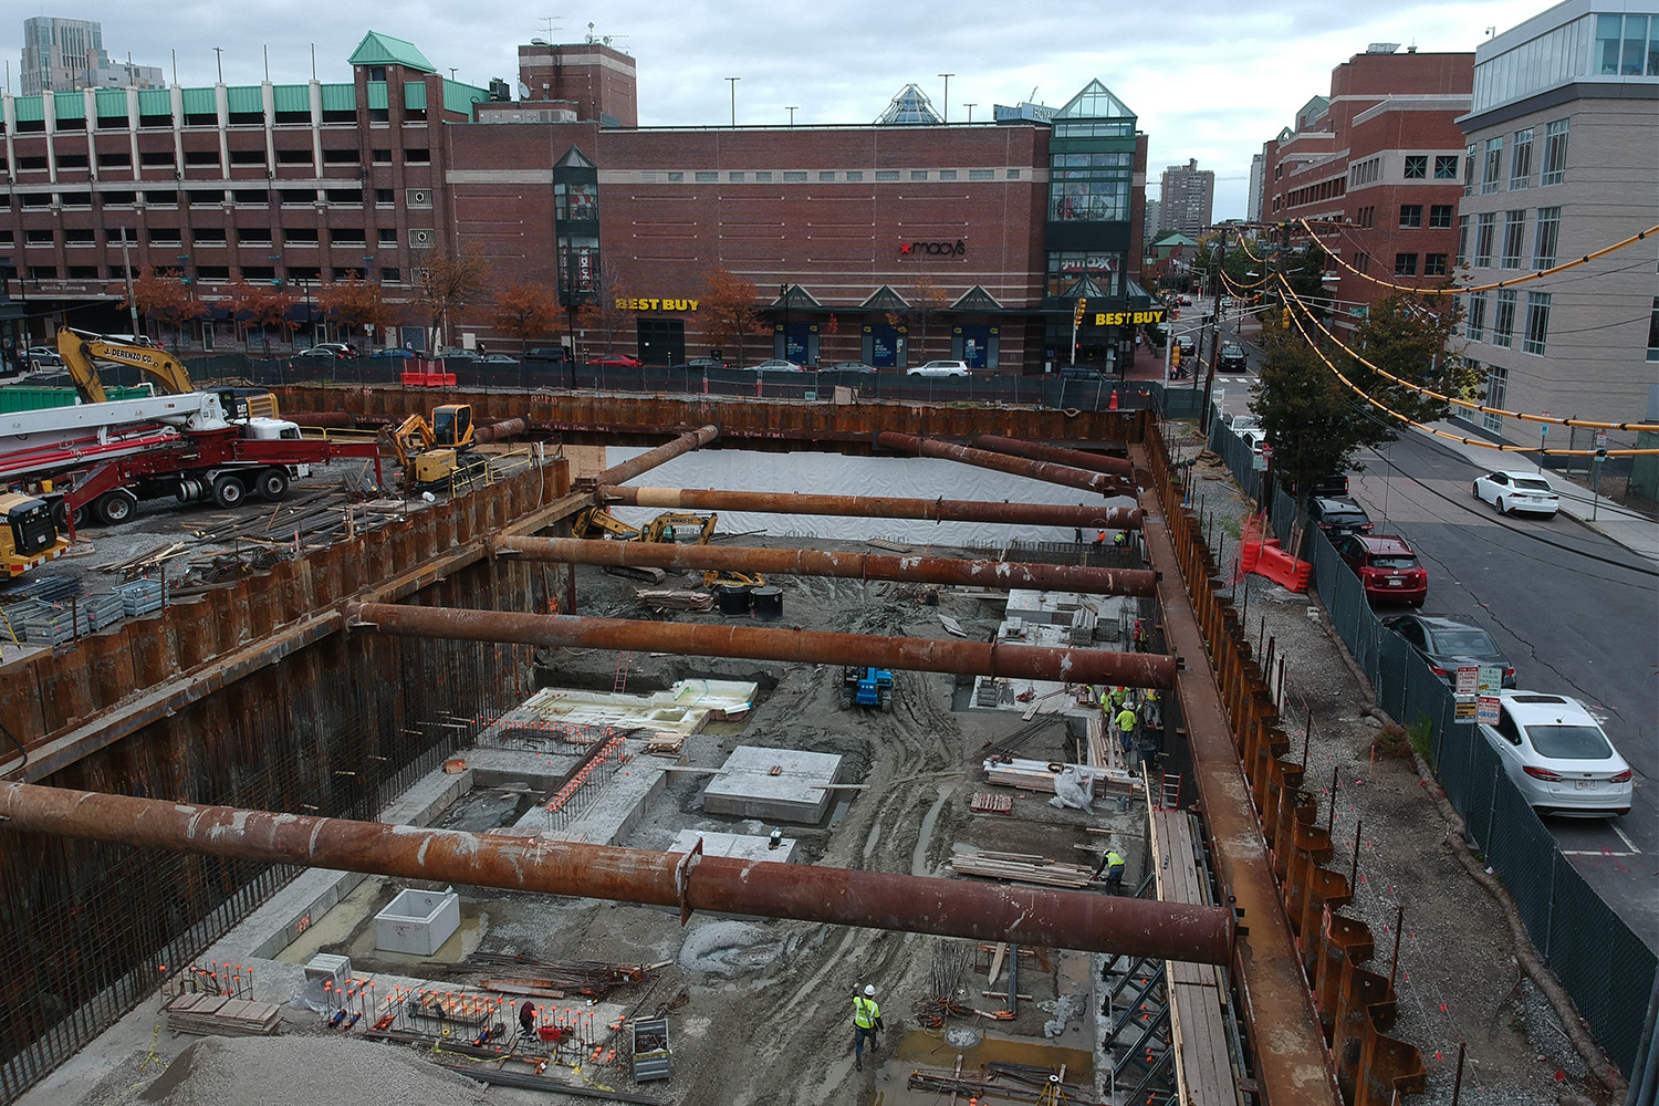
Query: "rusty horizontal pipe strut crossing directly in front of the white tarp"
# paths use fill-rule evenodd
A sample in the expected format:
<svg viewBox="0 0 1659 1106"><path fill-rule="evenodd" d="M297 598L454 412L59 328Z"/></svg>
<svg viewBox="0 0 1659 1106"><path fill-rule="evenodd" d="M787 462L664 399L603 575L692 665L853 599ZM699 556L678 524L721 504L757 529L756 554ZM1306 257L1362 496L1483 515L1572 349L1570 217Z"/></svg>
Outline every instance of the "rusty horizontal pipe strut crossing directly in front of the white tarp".
<svg viewBox="0 0 1659 1106"><path fill-rule="evenodd" d="M757 514L825 514L932 522L1002 522L1065 529L1138 531L1140 507L1085 507L1047 502L977 502L974 499L891 499L886 496L808 496L771 491L700 488L617 488L601 484L599 497L659 511L753 511Z"/></svg>

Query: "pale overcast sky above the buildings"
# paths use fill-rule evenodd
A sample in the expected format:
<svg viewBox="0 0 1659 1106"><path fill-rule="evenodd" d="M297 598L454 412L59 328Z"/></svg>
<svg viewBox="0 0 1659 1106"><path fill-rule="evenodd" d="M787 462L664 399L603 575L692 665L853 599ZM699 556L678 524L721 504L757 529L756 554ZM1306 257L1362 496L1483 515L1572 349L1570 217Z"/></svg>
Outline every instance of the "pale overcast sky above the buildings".
<svg viewBox="0 0 1659 1106"><path fill-rule="evenodd" d="M1256 3L1050 3L909 0L841 3L682 0L606 5L547 3L538 18L498 5L400 0L68 0L10 8L0 56L10 88L32 13L103 22L116 60L161 66L171 81L212 85L214 46L227 85L312 75L347 81L345 60L370 30L413 41L440 71L486 85L518 83L519 43L582 41L589 33L639 63L642 126L727 126L738 76L737 121L869 123L906 83L949 119L990 116L994 103L1034 99L1058 108L1100 78L1140 118L1151 158L1146 196L1165 166L1196 158L1216 172L1216 219L1243 217L1251 156L1289 126L1311 96L1329 93L1331 70L1374 41L1418 51L1470 51L1488 28L1505 32L1543 12L1540 0L1259 0ZM592 30L589 30L592 28Z"/></svg>

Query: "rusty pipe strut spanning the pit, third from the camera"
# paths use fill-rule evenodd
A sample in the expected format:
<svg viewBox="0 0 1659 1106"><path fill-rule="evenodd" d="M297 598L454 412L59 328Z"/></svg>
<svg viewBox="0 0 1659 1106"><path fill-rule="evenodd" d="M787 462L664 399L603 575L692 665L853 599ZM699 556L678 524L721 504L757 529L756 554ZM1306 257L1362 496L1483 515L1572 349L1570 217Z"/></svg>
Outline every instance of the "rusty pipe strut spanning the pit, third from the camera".
<svg viewBox="0 0 1659 1106"><path fill-rule="evenodd" d="M670 542L607 542L576 537L496 537L491 549L561 564L644 565L670 570L781 572L854 580L911 580L979 587L1035 587L1087 595L1156 595L1158 574L1146 569L1090 569L1067 564L904 557L815 549L743 549Z"/></svg>

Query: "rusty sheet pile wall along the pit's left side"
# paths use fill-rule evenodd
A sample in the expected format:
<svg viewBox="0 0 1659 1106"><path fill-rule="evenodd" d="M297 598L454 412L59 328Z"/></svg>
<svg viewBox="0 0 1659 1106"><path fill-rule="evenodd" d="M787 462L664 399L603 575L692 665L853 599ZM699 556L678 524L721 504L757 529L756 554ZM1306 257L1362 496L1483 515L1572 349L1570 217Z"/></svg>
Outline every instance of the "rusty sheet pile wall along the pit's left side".
<svg viewBox="0 0 1659 1106"><path fill-rule="evenodd" d="M546 610L541 565L489 560L483 536L544 506L531 471L201 602L134 618L0 673L25 776L88 791L377 817L387 801L529 695L531 650L348 638L360 592ZM466 555L458 555L460 552ZM440 565L455 570L436 579ZM239 662L260 652L262 660ZM173 706L119 703L191 688ZM418 678L405 678L418 673ZM158 698L159 696L159 698ZM121 716L111 735L88 720ZM80 726L80 730L76 730ZM65 735L88 735L68 743ZM8 758L15 766L15 758ZM0 1101L91 1041L295 871L0 829Z"/></svg>

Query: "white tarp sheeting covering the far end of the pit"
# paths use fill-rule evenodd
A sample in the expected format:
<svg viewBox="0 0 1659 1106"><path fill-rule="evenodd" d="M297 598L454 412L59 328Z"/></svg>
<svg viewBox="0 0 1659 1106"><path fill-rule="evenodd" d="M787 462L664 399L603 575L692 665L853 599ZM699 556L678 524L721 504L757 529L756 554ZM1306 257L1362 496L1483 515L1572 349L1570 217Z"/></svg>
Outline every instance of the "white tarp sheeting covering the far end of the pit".
<svg viewBox="0 0 1659 1106"><path fill-rule="evenodd" d="M609 446L606 464L620 464L645 453ZM755 453L748 449L693 449L637 479L637 488L718 488L723 491L805 492L815 496L889 496L899 499L977 499L984 502L1048 502L1133 507L1128 496L1102 499L1080 488L1065 488L1025 476L1009 476L961 461L936 458L853 458L839 453ZM622 521L640 526L660 514L655 507L612 507ZM914 546L999 546L1009 541L1068 542L1070 527L1004 526L990 522L929 522L926 519L859 519L821 514L750 514L722 511L722 534L765 531L773 536L838 541L886 541ZM1085 532L1085 541L1095 536ZM1112 541L1112 534L1107 534Z"/></svg>

